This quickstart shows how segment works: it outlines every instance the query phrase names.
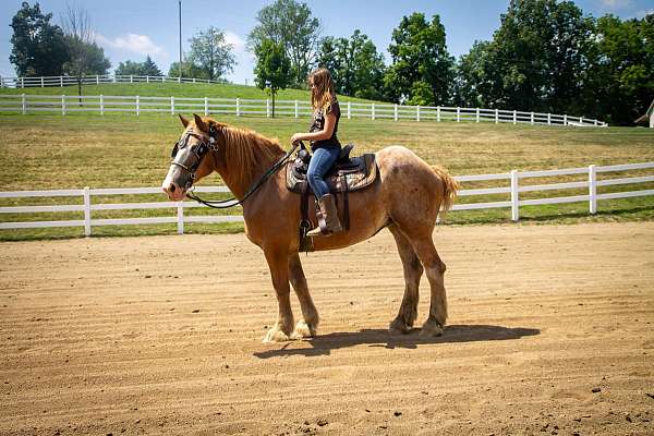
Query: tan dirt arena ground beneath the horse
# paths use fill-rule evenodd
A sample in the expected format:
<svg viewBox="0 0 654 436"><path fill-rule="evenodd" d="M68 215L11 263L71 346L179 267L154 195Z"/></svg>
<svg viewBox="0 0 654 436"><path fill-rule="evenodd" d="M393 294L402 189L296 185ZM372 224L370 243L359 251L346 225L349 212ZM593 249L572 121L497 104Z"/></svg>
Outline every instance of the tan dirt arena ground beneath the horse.
<svg viewBox="0 0 654 436"><path fill-rule="evenodd" d="M654 434L653 222L435 241L441 338L387 332L384 231L302 255L319 336L284 344L243 234L2 243L0 434Z"/></svg>

